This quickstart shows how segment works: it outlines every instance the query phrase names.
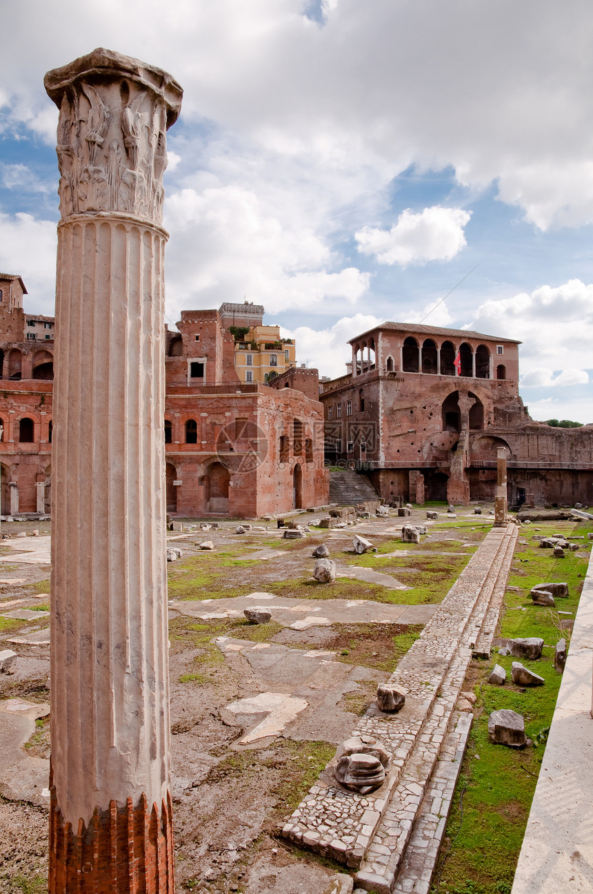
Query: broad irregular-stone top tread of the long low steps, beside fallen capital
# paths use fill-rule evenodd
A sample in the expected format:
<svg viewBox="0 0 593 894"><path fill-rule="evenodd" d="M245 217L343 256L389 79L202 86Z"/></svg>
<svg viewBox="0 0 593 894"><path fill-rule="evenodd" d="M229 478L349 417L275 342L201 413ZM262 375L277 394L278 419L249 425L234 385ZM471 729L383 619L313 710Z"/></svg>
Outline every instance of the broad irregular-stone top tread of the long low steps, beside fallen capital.
<svg viewBox="0 0 593 894"><path fill-rule="evenodd" d="M463 645L464 632L483 590L487 590L488 595L482 595L482 599L487 603L489 601L489 591L496 584L506 548L505 531L491 531L451 587L421 637L397 666L391 681L403 685L408 691L404 709L391 717L380 713L376 705L372 705L353 733L379 738L390 750L392 759L386 782L377 791L362 797L338 787L330 767L326 768L284 826L283 834L288 839L333 856L352 868L361 868L416 743L420 743L421 752L422 749L427 752L422 760L432 760L433 763L436 760L437 755L432 753L433 746L439 746L445 737L445 714L450 715L455 704L455 700L453 704L447 704L446 711L441 698L437 697L438 690ZM473 634L473 628L470 632ZM462 657L465 663L461 669L457 671L455 661L452 670L458 687L463 683L471 651L465 648ZM442 721L438 720L439 717L443 718ZM440 723L440 727L431 729L431 722L437 727ZM425 747L430 743L430 748ZM422 795L422 790L419 787L416 795Z"/></svg>

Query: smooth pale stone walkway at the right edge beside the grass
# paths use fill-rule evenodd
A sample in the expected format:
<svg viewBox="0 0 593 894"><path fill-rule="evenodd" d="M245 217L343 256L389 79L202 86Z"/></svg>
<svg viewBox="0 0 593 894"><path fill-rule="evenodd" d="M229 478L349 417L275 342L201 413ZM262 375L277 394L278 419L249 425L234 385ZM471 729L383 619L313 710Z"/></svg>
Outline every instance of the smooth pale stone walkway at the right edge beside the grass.
<svg viewBox="0 0 593 894"><path fill-rule="evenodd" d="M593 555L531 803L513 894L593 891L592 654Z"/></svg>

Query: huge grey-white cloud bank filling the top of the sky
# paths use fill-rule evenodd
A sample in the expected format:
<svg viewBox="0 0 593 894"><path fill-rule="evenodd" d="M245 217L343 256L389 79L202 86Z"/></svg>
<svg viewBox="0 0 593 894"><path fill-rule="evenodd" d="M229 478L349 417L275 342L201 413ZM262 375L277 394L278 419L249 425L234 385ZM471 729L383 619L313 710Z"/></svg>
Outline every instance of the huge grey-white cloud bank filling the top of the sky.
<svg viewBox="0 0 593 894"><path fill-rule="evenodd" d="M383 185L409 164L452 165L472 187L497 181L540 227L593 219L589 0L323 0L321 26L304 9L171 0L163 16L153 0L4 4L5 126L52 142L43 73L114 46L180 80L187 122L206 117L319 173L337 168L345 184L361 157Z"/></svg>

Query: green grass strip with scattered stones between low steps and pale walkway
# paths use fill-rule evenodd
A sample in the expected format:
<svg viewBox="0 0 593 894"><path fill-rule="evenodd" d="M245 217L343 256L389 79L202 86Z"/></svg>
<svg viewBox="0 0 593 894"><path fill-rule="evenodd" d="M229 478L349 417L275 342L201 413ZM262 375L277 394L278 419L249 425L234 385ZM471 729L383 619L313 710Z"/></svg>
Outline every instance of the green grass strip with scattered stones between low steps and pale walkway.
<svg viewBox="0 0 593 894"><path fill-rule="evenodd" d="M454 805L447 822L447 844L455 839L442 865L439 894L509 894L514 869L530 812L531 799L537 784L544 755L547 728L552 721L562 677L554 670L554 647L564 635L562 621L574 618L580 598L580 584L588 559L577 553L566 553L554 559L551 550L540 549L536 536L554 533L582 535L593 525L574 525L570 521L541 522L524 527L514 554L514 572L508 586L517 591L505 595L505 608L500 621L501 637L542 637L544 651L537 662L522 661L525 667L546 680L542 687L515 687L511 682L511 663L516 660L495 653L489 662L472 662L466 688L478 696L478 716L464 757L462 776L455 790ZM585 541L587 544L587 541ZM584 551L583 551L584 552ZM546 581L566 581L569 598L556 600L556 609L533 605L531 586ZM572 616L559 615L572 611ZM485 679L493 664L501 664L507 673L504 687L489 686ZM472 684L474 684L472 686ZM534 745L521 751L494 745L489 741L488 718L492 711L510 708L525 718L525 731ZM480 759L478 759L478 755ZM464 790L463 823L460 797ZM461 825L461 828L460 828ZM456 838L455 838L456 836ZM442 860L442 857L441 857ZM438 878L438 870L435 878ZM434 889L433 889L434 890Z"/></svg>

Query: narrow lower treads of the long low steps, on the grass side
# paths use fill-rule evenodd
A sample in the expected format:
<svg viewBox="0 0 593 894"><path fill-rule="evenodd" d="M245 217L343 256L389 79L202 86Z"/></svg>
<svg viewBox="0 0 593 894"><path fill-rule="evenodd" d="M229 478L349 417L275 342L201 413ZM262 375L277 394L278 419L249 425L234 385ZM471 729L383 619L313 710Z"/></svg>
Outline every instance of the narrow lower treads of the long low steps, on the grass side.
<svg viewBox="0 0 593 894"><path fill-rule="evenodd" d="M459 717L459 713L455 711L455 702L472 659L476 625L480 618L483 619L485 606L488 607L491 603L492 594L500 586L501 579L505 581L508 576L516 536L517 529L515 527L507 530L500 549L490 566L484 586L480 588L480 595L465 626L464 636L457 654L440 687L440 698L438 699L438 702L441 703L438 705L440 710L436 710L435 703L435 708L427 716L422 736L406 762L405 771L390 798L361 869L356 875L356 883L363 890L373 890L376 891L376 894L391 894L396 890L399 883L397 880L401 880L402 885L405 881L405 887L400 890L414 892L430 890L430 876L447 822L450 797L453 796L453 789L455 789L459 765L456 768L453 789L449 792L450 785L447 788L447 795L450 797L445 802L447 805L445 814L442 810L437 813L432 808L429 797L430 787L437 786L440 776L447 776L447 773L443 772L439 776L438 770L442 764L441 758L446 757L447 752L451 749L451 743L458 741L465 747L467 742L472 725L472 714L462 715L460 726L459 722L455 720ZM504 586L503 583L503 590ZM467 720L463 720L464 717ZM461 736L463 730L464 736ZM443 748L445 749L444 753ZM461 756L463 757L463 752ZM460 764L460 760L458 764ZM433 780L435 773L437 775ZM447 776L449 782L453 778L453 775L449 773ZM430 801L430 809L427 807L427 798ZM414 859L411 856L406 862L407 848L414 838L418 839L415 849L419 853L415 854Z"/></svg>

